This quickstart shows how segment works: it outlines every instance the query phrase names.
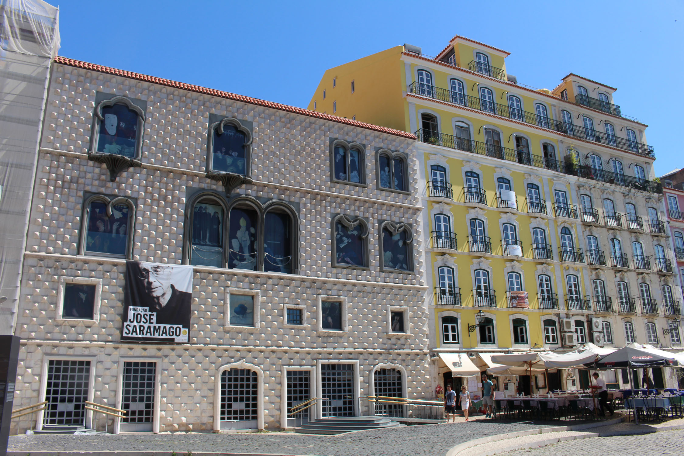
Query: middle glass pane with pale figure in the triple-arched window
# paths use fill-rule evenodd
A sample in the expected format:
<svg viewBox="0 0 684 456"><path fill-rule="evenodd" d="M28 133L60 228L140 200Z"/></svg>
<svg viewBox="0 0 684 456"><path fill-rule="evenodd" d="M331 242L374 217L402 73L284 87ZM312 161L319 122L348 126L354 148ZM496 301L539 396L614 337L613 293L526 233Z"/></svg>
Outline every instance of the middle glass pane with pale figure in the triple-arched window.
<svg viewBox="0 0 684 456"><path fill-rule="evenodd" d="M254 271L257 267L257 213L251 209L232 209L228 239L228 267Z"/></svg>

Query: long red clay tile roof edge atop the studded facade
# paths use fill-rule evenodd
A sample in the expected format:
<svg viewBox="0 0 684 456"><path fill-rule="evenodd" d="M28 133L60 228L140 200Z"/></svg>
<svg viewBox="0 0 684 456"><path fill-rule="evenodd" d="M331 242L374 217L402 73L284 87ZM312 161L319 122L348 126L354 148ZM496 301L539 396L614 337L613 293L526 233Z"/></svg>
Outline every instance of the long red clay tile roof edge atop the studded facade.
<svg viewBox="0 0 684 456"><path fill-rule="evenodd" d="M287 111L295 114L300 114L302 116L314 117L323 120L330 120L331 122L338 122L340 124L347 124L352 126L358 126L362 129L368 129L373 131L379 131L380 133L387 133L389 135L402 136L409 139L416 139L415 135L408 133L406 131L400 131L395 129L388 129L385 126L378 126L373 124L367 124L365 122L358 122L357 120L346 119L343 117L330 116L330 114L324 114L316 111L309 111L308 109L303 109L300 107L294 107L289 105L281 105L280 103L273 103L272 101L261 100L259 98L252 98L251 96L244 96L238 94L232 94L231 92L223 92L222 90L209 89L205 87L200 87L199 85L186 84L178 81L171 81L170 79L162 79L154 76L141 75L140 73L135 73L131 71L118 70L116 68L110 68L109 66L101 66L96 64L89 64L88 62L81 62L80 60L68 59L66 57L60 57L59 55L55 57L55 62L57 64L75 66L76 68L83 68L85 70L98 71L107 73L109 75L116 75L120 77L127 77L130 79L137 79L138 81L146 81L149 83L155 83L159 85L166 85L167 87L172 87L181 90L187 90L189 92L197 92L198 94L207 94L211 96L218 96L220 98L228 98L229 100L241 101L243 103L250 103L251 105L264 106L272 109L279 109L280 111Z"/></svg>

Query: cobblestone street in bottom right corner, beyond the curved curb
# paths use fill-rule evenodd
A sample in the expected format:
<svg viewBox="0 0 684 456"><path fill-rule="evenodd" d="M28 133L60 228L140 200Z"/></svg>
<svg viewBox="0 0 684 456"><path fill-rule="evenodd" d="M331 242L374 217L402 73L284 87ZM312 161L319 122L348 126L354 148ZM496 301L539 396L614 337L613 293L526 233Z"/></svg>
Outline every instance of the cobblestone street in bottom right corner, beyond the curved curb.
<svg viewBox="0 0 684 456"><path fill-rule="evenodd" d="M541 448L502 453L501 456L577 456L587 454L601 456L684 455L684 430L570 440Z"/></svg>

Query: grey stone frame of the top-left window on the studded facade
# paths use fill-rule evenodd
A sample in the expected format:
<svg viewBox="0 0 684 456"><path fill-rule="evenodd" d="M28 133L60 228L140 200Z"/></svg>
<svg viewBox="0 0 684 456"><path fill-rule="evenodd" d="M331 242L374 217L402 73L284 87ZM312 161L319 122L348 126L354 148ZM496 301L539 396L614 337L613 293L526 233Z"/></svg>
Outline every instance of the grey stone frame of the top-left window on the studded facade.
<svg viewBox="0 0 684 456"><path fill-rule="evenodd" d="M104 163L109 171L109 180L114 182L121 172L128 170L132 166L142 166L140 161L142 157L142 139L145 132L145 110L133 103L131 98L127 96L120 96L114 94L102 94L103 96L110 96L97 103L93 110L92 126L90 129L90 146L88 148L88 160L96 163ZM142 100L138 100L142 101ZM144 103L144 101L142 101ZM135 129L135 155L133 157L126 157L125 155L109 154L106 152L98 152L97 144L100 136L100 129L105 116L102 114L102 109L114 105L124 105L131 111L137 114L137 126Z"/></svg>

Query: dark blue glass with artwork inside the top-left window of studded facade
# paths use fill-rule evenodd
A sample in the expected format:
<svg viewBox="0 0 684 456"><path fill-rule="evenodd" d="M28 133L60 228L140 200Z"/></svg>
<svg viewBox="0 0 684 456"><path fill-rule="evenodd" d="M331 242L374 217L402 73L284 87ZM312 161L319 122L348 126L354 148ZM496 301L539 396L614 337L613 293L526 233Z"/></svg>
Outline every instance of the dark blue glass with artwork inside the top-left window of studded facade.
<svg viewBox="0 0 684 456"><path fill-rule="evenodd" d="M137 113L126 105L105 106L97 139L97 152L135 157Z"/></svg>

